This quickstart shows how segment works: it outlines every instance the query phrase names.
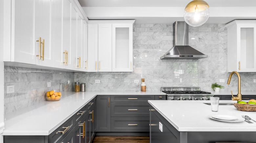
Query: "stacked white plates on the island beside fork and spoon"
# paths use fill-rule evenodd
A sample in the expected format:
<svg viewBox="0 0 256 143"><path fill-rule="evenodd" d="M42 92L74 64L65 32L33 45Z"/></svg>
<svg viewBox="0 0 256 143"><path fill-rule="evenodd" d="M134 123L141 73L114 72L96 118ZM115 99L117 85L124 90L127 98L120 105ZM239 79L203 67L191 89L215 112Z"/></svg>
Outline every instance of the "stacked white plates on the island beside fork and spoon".
<svg viewBox="0 0 256 143"><path fill-rule="evenodd" d="M223 121L223 122L242 122L245 120L242 117L236 118L236 117L230 116L230 115L212 115L210 118L217 120L217 121Z"/></svg>

